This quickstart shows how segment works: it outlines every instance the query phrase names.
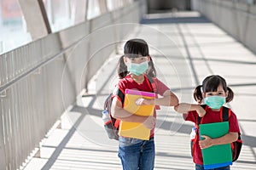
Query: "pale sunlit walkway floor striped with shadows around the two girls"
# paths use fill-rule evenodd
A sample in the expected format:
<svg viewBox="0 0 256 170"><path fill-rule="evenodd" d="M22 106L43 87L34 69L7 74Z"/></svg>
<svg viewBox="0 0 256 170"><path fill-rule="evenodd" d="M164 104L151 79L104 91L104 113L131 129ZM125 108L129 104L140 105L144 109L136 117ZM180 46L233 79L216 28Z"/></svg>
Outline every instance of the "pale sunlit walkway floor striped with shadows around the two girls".
<svg viewBox="0 0 256 170"><path fill-rule="evenodd" d="M127 39L140 37L148 42L158 77L181 101L194 103L195 86L210 74L227 80L235 92L229 106L238 117L244 141L241 156L232 169L255 169L255 54L195 12L150 14L142 23L134 25L136 29ZM120 44L120 54L122 47ZM53 128L44 139L40 157L33 157L25 170L121 169L118 142L108 139L101 119L103 100L117 80L118 58L119 55L113 55L106 61L90 81L89 94L78 97L76 105L64 114L61 128ZM155 135L154 169L194 169L189 149L191 127L193 124L183 122L172 108L161 108Z"/></svg>

